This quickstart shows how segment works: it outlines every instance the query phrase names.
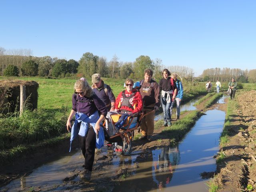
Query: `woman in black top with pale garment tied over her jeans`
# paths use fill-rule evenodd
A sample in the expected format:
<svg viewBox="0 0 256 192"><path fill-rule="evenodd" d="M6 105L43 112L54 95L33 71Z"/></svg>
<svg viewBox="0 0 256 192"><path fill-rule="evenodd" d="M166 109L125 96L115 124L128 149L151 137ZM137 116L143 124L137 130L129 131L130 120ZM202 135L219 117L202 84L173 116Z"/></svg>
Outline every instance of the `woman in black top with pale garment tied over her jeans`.
<svg viewBox="0 0 256 192"><path fill-rule="evenodd" d="M163 126L171 126L171 114L170 107L174 102L175 96L177 94L177 86L174 83L174 79L170 78L170 71L168 69L164 69L162 71L162 78L159 82L159 88L161 92L161 102L162 108L164 112L164 125Z"/></svg>

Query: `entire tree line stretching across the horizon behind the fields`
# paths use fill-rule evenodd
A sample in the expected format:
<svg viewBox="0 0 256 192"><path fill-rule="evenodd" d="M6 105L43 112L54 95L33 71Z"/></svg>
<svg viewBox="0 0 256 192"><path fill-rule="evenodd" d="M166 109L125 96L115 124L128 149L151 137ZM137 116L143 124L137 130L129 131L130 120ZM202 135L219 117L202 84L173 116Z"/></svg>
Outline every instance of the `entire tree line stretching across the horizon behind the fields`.
<svg viewBox="0 0 256 192"><path fill-rule="evenodd" d="M163 66L162 60L152 60L149 56L141 55L134 62L121 62L114 55L108 62L105 57L99 57L86 52L79 61L51 58L50 56L31 56L32 51L26 49L5 50L0 47L0 74L3 76L50 76L55 78L86 77L100 73L108 78L142 79L144 70L154 70L154 79L162 78L162 70L168 68L175 72L182 81L229 81L232 77L238 82L256 82L256 70L241 70L230 68L210 68L204 70L198 78L194 77L194 70L185 66Z"/></svg>

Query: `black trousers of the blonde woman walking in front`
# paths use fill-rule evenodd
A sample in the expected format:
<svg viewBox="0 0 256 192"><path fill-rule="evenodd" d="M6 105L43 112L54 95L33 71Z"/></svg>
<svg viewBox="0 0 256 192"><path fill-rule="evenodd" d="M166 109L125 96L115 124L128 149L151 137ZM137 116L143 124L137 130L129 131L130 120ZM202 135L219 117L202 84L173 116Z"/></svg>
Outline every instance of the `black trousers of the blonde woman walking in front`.
<svg viewBox="0 0 256 192"><path fill-rule="evenodd" d="M89 126L89 130L86 136L82 137L79 135L81 150L84 155L84 169L92 171L94 162L94 153L96 148L96 134L94 129Z"/></svg>

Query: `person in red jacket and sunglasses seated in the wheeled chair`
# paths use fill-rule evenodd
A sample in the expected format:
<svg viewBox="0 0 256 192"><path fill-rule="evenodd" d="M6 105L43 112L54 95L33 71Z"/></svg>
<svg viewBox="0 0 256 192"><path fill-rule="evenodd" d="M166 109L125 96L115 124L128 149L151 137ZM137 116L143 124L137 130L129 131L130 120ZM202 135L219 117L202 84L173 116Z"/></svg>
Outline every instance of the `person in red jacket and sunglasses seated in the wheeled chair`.
<svg viewBox="0 0 256 192"><path fill-rule="evenodd" d="M132 79L126 79L126 90L120 92L116 98L115 111L120 112L122 116L116 122L115 126L120 129L122 120L134 113L142 111L142 96L138 90L133 88L134 81Z"/></svg>

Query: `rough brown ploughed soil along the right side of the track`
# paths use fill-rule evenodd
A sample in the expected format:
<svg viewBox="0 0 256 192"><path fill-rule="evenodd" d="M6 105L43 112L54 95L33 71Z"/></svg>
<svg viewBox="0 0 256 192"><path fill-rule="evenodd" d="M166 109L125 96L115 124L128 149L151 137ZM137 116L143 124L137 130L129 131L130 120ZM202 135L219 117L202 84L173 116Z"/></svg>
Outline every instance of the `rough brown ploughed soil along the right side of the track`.
<svg viewBox="0 0 256 192"><path fill-rule="evenodd" d="M242 92L233 104L238 104L228 126L230 140L220 149L226 156L218 164L215 182L218 191L240 192L256 190L256 91Z"/></svg>

